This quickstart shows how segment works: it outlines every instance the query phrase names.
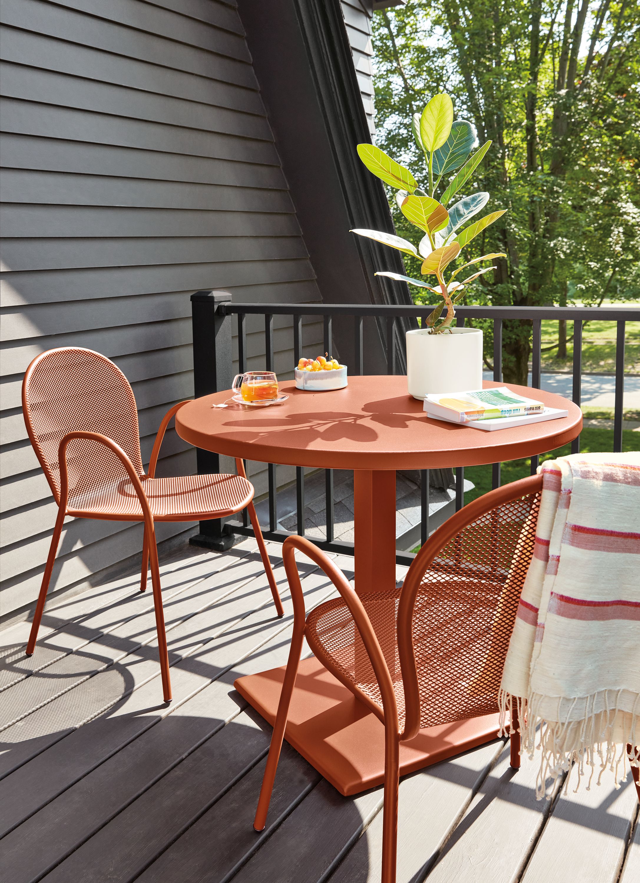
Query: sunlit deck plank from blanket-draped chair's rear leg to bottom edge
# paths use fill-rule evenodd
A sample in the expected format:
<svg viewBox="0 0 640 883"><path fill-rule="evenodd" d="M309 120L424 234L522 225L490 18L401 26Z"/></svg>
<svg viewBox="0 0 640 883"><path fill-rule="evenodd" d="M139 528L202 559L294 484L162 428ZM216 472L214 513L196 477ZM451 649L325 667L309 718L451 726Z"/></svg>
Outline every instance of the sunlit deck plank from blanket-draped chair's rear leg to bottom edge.
<svg viewBox="0 0 640 883"><path fill-rule="evenodd" d="M509 745L446 841L429 883L515 883L536 842L550 803L536 800L537 763L509 766Z"/></svg>

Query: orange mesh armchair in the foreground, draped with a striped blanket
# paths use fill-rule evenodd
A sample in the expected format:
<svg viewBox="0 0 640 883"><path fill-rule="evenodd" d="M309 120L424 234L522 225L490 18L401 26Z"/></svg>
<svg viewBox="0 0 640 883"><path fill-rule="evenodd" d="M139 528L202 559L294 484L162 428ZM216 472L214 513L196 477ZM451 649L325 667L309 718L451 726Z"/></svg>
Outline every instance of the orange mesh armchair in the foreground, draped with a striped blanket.
<svg viewBox="0 0 640 883"><path fill-rule="evenodd" d="M309 540L288 537L293 638L255 814L262 831L306 637L316 657L385 725L383 883L396 879L400 742L420 728L498 712L498 691L535 540L542 476L484 494L434 532L401 589L357 595ZM340 597L305 622L295 549L331 578ZM362 588L361 588L362 591ZM512 721L512 727L517 722ZM511 766L520 736L511 735Z"/></svg>

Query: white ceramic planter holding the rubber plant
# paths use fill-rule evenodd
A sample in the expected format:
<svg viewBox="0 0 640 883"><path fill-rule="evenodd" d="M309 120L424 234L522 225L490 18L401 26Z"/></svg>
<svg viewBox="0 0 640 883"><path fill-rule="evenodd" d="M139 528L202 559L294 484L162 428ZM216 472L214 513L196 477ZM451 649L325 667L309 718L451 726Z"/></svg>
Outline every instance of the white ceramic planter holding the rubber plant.
<svg viewBox="0 0 640 883"><path fill-rule="evenodd" d="M409 395L482 389L483 333L479 328L452 328L431 334L430 328L407 332Z"/></svg>

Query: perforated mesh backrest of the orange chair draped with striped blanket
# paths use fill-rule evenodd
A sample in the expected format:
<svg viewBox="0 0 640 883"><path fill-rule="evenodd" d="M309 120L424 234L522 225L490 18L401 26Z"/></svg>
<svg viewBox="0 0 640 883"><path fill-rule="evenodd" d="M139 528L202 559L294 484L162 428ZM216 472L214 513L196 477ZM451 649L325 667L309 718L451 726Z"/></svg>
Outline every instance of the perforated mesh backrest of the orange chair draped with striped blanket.
<svg viewBox="0 0 640 883"><path fill-rule="evenodd" d="M498 711L538 508L534 493L485 512L424 573L412 621L421 727Z"/></svg>

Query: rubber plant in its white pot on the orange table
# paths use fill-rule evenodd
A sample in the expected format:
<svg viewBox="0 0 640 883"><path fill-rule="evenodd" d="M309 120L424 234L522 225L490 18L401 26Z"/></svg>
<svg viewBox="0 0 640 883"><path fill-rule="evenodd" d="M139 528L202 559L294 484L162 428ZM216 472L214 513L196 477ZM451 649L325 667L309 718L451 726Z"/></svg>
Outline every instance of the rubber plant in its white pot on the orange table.
<svg viewBox="0 0 640 883"><path fill-rule="evenodd" d="M379 147L359 144L357 149L367 169L398 191L396 201L400 211L420 230L418 245L378 230L351 232L421 259L423 276L435 276L434 283L432 279L413 279L385 270L376 274L416 285L441 298L423 328L407 333L409 394L423 399L428 393L482 387L482 331L479 328L454 328L453 319L455 305L467 287L494 267L476 269L464 279L460 279L459 274L474 264L505 257L505 254L484 254L467 260L450 272L448 278L446 271L460 257L462 249L505 212L491 212L468 223L489 201L487 192L471 192L451 204L454 196L469 192L471 176L491 147L491 140L472 153L478 143L476 128L468 120L453 119L453 102L449 95L434 95L422 114L414 114L411 126L426 162L423 187L418 186L408 169ZM437 197L438 191L442 192Z"/></svg>

